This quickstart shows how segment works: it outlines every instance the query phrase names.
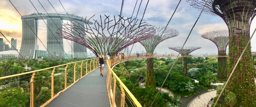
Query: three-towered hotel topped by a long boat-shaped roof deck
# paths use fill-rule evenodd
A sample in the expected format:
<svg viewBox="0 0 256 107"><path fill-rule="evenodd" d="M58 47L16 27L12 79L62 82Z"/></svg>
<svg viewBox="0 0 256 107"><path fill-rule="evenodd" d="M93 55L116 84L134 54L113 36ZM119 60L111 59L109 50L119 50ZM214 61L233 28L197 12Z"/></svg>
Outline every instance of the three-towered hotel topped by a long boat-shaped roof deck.
<svg viewBox="0 0 256 107"><path fill-rule="evenodd" d="M41 15L41 16L40 16ZM22 16L22 41L20 54L25 59L37 58L37 34L38 20L47 20L47 58L65 58L63 39L56 31L62 26L62 20L72 21L72 24L92 24L88 20L81 20L82 17L68 16L64 14L40 14ZM87 58L87 49L81 44L73 43L73 58ZM20 55L18 58L22 58ZM45 58L45 57L44 57Z"/></svg>

